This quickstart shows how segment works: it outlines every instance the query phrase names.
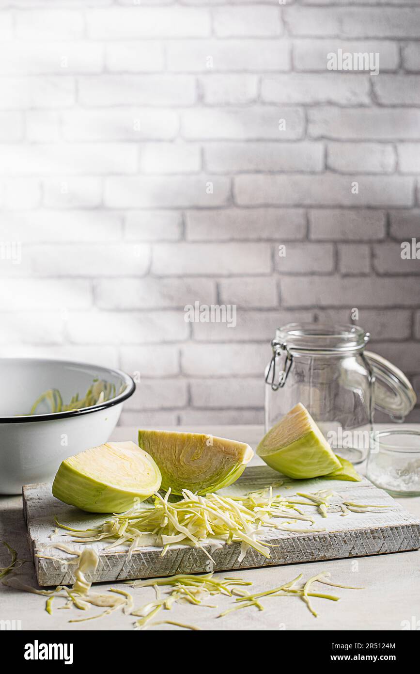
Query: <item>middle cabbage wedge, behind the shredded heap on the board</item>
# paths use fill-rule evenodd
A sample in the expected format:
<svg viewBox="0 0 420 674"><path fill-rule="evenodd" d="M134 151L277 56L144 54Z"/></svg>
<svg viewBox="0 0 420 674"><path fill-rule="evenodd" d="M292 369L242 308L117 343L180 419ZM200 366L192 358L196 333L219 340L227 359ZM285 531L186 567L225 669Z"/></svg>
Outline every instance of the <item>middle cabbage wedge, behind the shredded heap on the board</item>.
<svg viewBox="0 0 420 674"><path fill-rule="evenodd" d="M139 431L139 446L153 457L162 473L162 489L181 495L232 485L250 462L249 445L202 433Z"/></svg>

